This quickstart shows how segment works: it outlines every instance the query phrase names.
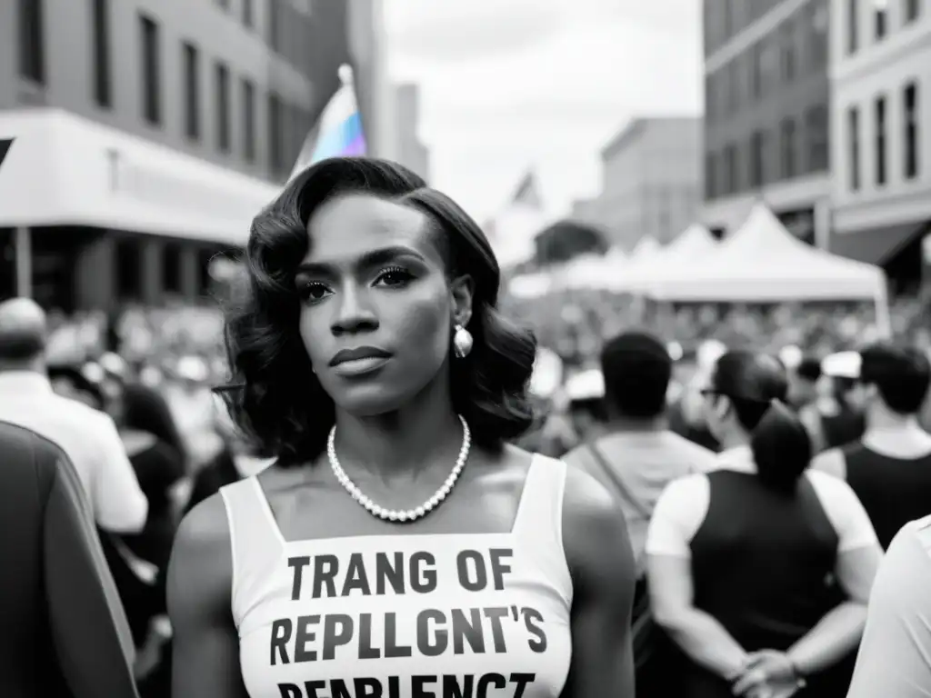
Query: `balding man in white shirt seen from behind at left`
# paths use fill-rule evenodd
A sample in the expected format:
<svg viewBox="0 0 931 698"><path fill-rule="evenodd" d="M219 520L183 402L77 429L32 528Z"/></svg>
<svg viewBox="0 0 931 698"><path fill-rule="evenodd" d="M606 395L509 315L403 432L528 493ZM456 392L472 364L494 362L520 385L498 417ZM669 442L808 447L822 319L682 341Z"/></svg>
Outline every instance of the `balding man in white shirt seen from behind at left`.
<svg viewBox="0 0 931 698"><path fill-rule="evenodd" d="M52 390L45 364L46 319L24 298L0 303L0 420L32 429L74 463L101 529L142 530L148 502L113 420Z"/></svg>

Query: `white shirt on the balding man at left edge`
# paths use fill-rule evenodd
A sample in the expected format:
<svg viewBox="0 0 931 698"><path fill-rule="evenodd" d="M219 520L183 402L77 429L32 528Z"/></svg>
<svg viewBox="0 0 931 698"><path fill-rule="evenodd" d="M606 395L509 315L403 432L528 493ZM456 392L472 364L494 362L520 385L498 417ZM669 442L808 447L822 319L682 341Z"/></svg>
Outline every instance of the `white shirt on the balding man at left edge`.
<svg viewBox="0 0 931 698"><path fill-rule="evenodd" d="M55 395L40 373L0 373L0 422L44 436L74 465L101 529L142 530L149 503L109 415Z"/></svg>

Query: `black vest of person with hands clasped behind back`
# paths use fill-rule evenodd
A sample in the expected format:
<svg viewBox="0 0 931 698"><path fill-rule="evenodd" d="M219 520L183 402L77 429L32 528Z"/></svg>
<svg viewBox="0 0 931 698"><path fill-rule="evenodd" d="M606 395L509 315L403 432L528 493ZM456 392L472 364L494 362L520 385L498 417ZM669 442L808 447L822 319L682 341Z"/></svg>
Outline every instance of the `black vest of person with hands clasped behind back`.
<svg viewBox="0 0 931 698"><path fill-rule="evenodd" d="M695 607L747 651L788 650L837 602L838 535L807 477L794 495L768 490L753 474L708 474L708 514L692 541ZM724 698L730 686L689 663L682 696ZM843 698L834 671L796 696Z"/></svg>

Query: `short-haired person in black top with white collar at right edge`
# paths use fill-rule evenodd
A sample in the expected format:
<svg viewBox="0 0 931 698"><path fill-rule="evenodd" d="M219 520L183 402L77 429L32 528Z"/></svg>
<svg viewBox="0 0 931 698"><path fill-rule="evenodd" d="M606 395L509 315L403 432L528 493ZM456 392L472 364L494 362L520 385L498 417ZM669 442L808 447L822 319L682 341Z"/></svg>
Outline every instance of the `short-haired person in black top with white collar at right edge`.
<svg viewBox="0 0 931 698"><path fill-rule="evenodd" d="M866 433L813 464L857 492L885 548L908 521L931 514L931 434L918 423L931 363L917 349L887 342L859 356L857 400L866 406Z"/></svg>

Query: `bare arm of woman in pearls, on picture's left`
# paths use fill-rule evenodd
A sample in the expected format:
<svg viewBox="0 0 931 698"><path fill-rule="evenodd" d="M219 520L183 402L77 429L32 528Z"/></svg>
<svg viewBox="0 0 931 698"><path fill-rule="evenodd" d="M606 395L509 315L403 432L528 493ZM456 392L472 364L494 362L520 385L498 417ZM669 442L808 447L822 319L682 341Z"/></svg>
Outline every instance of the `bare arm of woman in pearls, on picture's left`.
<svg viewBox="0 0 931 698"><path fill-rule="evenodd" d="M216 494L184 517L171 551L172 695L249 698L239 670L232 588L229 527Z"/></svg>

